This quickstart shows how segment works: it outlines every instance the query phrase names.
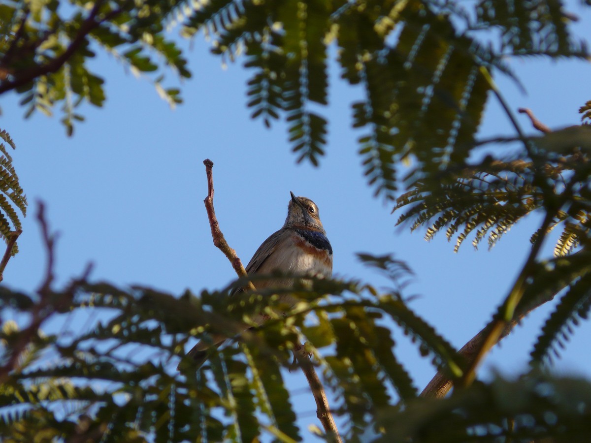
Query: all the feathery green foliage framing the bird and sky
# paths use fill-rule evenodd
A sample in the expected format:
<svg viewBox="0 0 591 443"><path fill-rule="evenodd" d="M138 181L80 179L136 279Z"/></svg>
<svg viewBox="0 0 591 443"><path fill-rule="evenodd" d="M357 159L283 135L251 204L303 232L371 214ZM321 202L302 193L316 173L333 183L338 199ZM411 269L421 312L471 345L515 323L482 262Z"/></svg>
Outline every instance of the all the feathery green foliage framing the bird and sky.
<svg viewBox="0 0 591 443"><path fill-rule="evenodd" d="M493 77L512 76L506 57L587 57L562 2L73 1L68 17L59 5L0 5L0 92L21 93L29 110L61 103L71 132L82 118L77 105L102 105L103 80L87 64L99 47L138 72L164 65L188 77L183 54L163 33L164 23L177 20L184 35L206 32L216 54L230 60L245 54L253 117L268 126L284 117L298 159L317 164L327 145L322 110L329 103L334 48L342 79L364 92L351 112L362 132L368 183L382 197L398 197L399 222L427 225L428 238L447 229L457 247L471 235L475 245L488 236L492 246L514 223L541 214L532 250L558 228L556 257L531 255L493 321L513 321L557 295L560 301L531 350L535 370L519 382L476 382L441 401L418 397L412 370L397 355L395 333L409 335L454 382L470 369L408 307L400 283L408 270L389 256L361 258L391 276L392 291L311 278L297 286L301 302L285 317L270 309L276 303L271 295L281 289L228 298L243 281L180 297L86 277L63 289L48 277L36 294L2 287L3 320L18 320L4 321L0 334L0 434L6 441L309 438L285 382L297 340L307 342L339 431L350 441L368 435L405 442L577 441L591 434L590 383L538 372L591 305L589 128L531 137L516 125L515 134L494 141L512 149L499 149L495 157L479 157L479 147L492 141L476 139L486 100L494 96L504 105ZM491 37L491 28L498 34ZM160 77L154 82L160 87ZM165 96L171 102L178 97L174 89ZM586 122L589 102L581 113ZM400 177L402 162L410 166ZM261 310L271 317L261 328L239 335L233 346L212 349L199 371L183 360L176 372L193 337L232 335ZM71 330L78 316L87 327Z"/></svg>

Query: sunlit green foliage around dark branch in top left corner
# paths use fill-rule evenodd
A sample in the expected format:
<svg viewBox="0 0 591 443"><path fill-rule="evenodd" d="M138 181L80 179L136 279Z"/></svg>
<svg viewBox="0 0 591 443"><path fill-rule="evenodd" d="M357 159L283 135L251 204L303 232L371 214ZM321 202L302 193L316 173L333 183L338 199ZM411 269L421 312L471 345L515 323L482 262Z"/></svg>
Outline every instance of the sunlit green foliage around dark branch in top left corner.
<svg viewBox="0 0 591 443"><path fill-rule="evenodd" d="M189 78L177 43L164 33L177 2L133 0L19 0L0 5L0 94L22 96L25 116L52 115L61 105L69 135L82 103L102 106L105 80L92 68L98 51L108 53L136 76L150 78L170 105L180 91L164 86L168 68ZM157 74L157 75L156 75Z"/></svg>

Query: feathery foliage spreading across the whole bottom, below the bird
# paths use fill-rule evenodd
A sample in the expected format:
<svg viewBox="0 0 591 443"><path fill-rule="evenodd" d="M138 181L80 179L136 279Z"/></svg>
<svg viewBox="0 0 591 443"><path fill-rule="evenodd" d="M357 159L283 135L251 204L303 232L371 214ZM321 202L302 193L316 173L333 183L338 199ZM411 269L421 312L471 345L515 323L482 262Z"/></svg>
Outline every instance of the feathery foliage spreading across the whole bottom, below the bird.
<svg viewBox="0 0 591 443"><path fill-rule="evenodd" d="M389 256L361 259L387 273L395 288L404 287L409 270L403 263ZM580 260L588 266L588 257ZM418 397L411 369L397 355L396 335L411 337L454 380L464 363L397 289L311 278L291 293L300 300L293 310L277 315L281 305L271 294L284 289L230 296L243 284L180 296L85 277L60 290L46 281L37 294L0 287L5 315L34 318L24 327L5 321L0 331L4 441L307 440L294 408L297 393L286 383L296 369L294 343L304 340L346 441L374 435L400 442L548 436L566 442L591 432L587 380L532 372L519 381L478 382L445 400ZM231 335L261 310L271 317L264 325L238 335L232 346L212 348L199 370L191 359L176 370L191 335Z"/></svg>

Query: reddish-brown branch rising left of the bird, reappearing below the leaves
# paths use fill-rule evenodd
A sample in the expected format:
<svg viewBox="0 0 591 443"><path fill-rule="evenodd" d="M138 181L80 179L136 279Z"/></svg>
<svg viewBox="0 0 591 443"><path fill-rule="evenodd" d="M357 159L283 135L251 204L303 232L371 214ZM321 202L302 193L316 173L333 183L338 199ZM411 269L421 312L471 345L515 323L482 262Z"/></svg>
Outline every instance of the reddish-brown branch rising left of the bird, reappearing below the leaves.
<svg viewBox="0 0 591 443"><path fill-rule="evenodd" d="M232 263L232 268L236 271L239 277L247 276L244 266L242 266L241 260L236 255L236 251L232 249L220 230L219 223L217 223L216 213L213 209L213 162L210 159L203 161L205 165L205 171L207 174L207 197L203 200L205 203L205 209L207 210L207 218L209 219L209 226L212 229L213 244L218 247ZM256 290L252 282L249 282L249 288ZM324 392L324 387L320 382L320 378L311 364L307 354L303 351L301 345L298 345L296 350L296 358L300 362L300 367L303 373L306 375L306 379L310 385L314 400L316 400L316 415L320 419L324 431L327 435L331 436L333 441L341 443L342 439L339 436L335 419L333 419L332 413L330 413L329 402Z"/></svg>

